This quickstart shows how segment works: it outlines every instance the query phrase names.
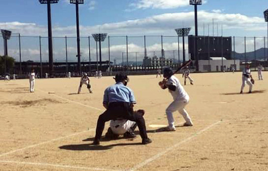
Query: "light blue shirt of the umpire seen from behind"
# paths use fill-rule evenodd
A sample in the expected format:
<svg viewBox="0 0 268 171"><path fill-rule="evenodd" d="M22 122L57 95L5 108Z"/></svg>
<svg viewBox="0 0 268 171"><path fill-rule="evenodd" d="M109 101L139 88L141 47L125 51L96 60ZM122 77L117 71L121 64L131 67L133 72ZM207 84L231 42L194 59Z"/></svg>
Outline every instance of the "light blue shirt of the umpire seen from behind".
<svg viewBox="0 0 268 171"><path fill-rule="evenodd" d="M104 91L103 103L112 102L128 102L136 103L132 89L125 86L122 82L118 82Z"/></svg>

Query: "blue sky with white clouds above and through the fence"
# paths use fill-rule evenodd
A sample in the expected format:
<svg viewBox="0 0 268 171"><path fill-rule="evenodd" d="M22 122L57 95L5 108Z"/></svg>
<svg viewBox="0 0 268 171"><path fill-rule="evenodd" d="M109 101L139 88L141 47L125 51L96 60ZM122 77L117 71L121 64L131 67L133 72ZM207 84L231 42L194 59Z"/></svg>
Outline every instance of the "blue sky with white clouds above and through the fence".
<svg viewBox="0 0 268 171"><path fill-rule="evenodd" d="M23 3L22 3L23 1ZM69 0L60 0L52 4L53 36L76 36L75 5L69 4ZM189 5L189 0L84 0L79 5L80 35L87 37L92 33L106 32L108 35L166 35L176 36L174 28L192 27L190 34L194 34L194 7ZM20 33L23 36L47 36L47 6L40 4L38 0L0 0L1 17L0 28L11 30L12 33ZM199 35L212 35L212 19L214 19L214 35L216 24L223 36L267 36L267 23L264 21L263 11L268 8L268 0L203 0L199 9ZM29 38L30 39L30 38ZM23 56L29 59L39 57L39 39L28 41L23 38ZM176 50L178 44L176 38L165 38L166 50ZM160 51L159 38L147 38L148 51ZM30 43L31 42L31 43ZM34 43L33 43L34 42ZM44 39L42 53L48 56L47 43ZM64 58L64 40L54 40L55 56L58 60ZM258 39L258 48L262 47L263 40ZM268 41L267 41L268 42ZM267 43L266 42L266 43ZM0 41L0 54L2 45ZM237 50L243 52L243 38L236 41ZM252 45L248 40L247 45ZM14 57L18 57L17 40L9 41L9 51ZM92 53L94 53L94 42ZM103 47L107 48L107 40ZM125 39L113 39L111 51L114 56L121 56L125 51ZM142 38L130 39L129 52L143 51ZM75 39L68 42L68 51L75 56ZM88 53L87 41L81 41L81 51ZM252 46L247 51L252 50ZM107 50L103 50L107 53ZM142 53L141 53L142 54Z"/></svg>

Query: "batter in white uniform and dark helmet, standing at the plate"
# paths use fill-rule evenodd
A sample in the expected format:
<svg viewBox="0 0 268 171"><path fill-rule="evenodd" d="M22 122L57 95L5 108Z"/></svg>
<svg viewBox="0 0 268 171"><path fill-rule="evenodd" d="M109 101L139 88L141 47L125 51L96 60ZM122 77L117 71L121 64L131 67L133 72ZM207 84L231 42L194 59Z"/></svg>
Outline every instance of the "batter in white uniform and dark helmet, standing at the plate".
<svg viewBox="0 0 268 171"><path fill-rule="evenodd" d="M173 97L173 102L168 106L166 109L167 119L168 119L168 126L164 128L165 131L175 131L174 125L174 118L173 113L178 111L185 119L184 126L193 126L193 122L184 109L185 106L189 103L189 95L184 90L183 86L181 85L179 79L173 75L172 70L167 67L164 68L163 76L166 79L160 81L158 84L162 89L168 88L169 92Z"/></svg>

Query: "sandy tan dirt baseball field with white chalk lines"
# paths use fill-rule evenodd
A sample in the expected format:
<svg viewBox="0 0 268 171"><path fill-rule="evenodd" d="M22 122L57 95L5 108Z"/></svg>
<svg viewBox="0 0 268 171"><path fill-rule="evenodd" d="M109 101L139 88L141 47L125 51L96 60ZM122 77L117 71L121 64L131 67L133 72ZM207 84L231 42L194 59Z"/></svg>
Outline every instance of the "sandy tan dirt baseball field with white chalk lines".
<svg viewBox="0 0 268 171"><path fill-rule="evenodd" d="M76 94L79 78L37 79L34 93L26 79L0 81L0 171L268 171L268 72L262 81L252 74L253 93L246 85L242 95L241 72L191 74L194 85L184 87L194 126L176 113L174 132L150 127L167 124L172 97L161 78L129 76L148 145L139 136L90 145L112 77L91 78L93 94L85 86Z"/></svg>

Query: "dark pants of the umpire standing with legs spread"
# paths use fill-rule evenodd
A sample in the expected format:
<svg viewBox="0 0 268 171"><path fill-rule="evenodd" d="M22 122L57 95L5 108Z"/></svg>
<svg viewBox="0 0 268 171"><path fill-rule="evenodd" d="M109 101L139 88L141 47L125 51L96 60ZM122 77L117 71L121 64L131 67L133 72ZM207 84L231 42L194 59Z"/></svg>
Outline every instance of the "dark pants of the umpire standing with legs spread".
<svg viewBox="0 0 268 171"><path fill-rule="evenodd" d="M143 116L134 114L133 109L130 107L130 103L113 102L109 104L108 109L98 118L95 140L100 140L106 121L112 119L115 120L118 118L128 119L136 122L141 138L148 138Z"/></svg>

